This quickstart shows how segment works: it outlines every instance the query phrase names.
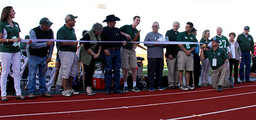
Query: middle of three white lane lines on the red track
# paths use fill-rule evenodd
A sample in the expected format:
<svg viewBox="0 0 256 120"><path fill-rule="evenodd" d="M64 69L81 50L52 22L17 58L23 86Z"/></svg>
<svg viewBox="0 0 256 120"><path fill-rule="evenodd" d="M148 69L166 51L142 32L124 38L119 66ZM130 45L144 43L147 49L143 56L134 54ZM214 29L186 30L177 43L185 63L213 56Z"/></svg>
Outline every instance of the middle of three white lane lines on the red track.
<svg viewBox="0 0 256 120"><path fill-rule="evenodd" d="M232 96L240 96L247 94L255 94L256 92L243 93L237 95L228 95L228 96L219 96L219 97L211 97L211 98L202 98L202 99L194 99L194 100L185 100L185 101L176 101L176 102L167 102L167 103L156 103L156 104L146 104L146 105L136 105L136 106L122 106L122 107L114 107L114 108L102 108L102 109L90 109L90 110L77 110L77 111L66 111L66 112L48 112L48 113L34 113L34 114L16 114L16 115L5 115L1 117L15 117L15 116L29 116L29 115L44 115L44 114L59 114L59 113L74 113L74 112L89 112L89 111L99 111L99 110L112 110L112 109L124 109L124 108L135 108L135 107L145 107L145 106L156 106L156 105L166 105L166 104L174 104L174 103L182 103L182 102L191 102L191 101L200 101L200 100L209 100L216 98L225 98Z"/></svg>

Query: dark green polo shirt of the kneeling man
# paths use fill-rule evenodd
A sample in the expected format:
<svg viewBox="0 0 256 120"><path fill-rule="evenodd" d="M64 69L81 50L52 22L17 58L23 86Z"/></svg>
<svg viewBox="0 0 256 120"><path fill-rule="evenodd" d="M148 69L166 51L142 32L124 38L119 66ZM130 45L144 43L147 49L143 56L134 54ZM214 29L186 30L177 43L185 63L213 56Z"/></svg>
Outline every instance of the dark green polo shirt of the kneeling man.
<svg viewBox="0 0 256 120"><path fill-rule="evenodd" d="M224 65L225 60L228 59L226 52L219 48L214 51L214 49L209 49L206 52L204 52L204 58L208 58L210 62L210 67L212 70L216 70L222 65ZM217 59L217 66L212 66L212 59Z"/></svg>

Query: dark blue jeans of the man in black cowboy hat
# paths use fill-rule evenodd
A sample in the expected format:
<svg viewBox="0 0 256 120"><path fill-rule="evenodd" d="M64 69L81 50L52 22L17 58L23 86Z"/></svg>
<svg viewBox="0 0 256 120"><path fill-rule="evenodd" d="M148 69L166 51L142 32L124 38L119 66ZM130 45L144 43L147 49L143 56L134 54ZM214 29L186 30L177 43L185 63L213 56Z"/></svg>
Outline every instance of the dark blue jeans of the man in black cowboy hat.
<svg viewBox="0 0 256 120"><path fill-rule="evenodd" d="M120 49L112 50L109 49L111 53L110 56L107 56L105 53L105 90L111 91L111 83L112 83L112 74L114 74L113 81L114 81L114 92L120 91L120 68L121 68L121 54Z"/></svg>

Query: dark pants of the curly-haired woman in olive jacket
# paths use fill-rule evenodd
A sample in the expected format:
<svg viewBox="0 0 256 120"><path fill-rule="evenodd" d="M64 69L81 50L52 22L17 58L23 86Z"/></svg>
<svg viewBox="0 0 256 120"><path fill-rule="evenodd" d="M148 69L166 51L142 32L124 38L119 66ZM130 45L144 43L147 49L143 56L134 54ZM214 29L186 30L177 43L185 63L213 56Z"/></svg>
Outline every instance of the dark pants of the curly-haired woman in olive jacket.
<svg viewBox="0 0 256 120"><path fill-rule="evenodd" d="M83 64L84 72L86 72L86 76L85 76L86 81L84 83L85 86L92 86L93 73L94 73L94 69L95 69L95 61L96 61L96 59L94 59L92 57L92 60L89 64L89 66Z"/></svg>

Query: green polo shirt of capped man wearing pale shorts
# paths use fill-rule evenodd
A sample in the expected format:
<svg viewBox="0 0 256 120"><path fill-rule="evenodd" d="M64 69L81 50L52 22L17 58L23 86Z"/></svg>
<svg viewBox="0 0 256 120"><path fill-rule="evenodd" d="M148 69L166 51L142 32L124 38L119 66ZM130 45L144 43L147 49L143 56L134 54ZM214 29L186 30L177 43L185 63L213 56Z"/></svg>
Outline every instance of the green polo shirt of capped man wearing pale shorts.
<svg viewBox="0 0 256 120"><path fill-rule="evenodd" d="M65 24L59 28L57 32L57 40L74 40L76 41L76 33L75 29L67 27ZM61 42L56 42L58 45L58 49L61 51L71 51L75 52L77 50L77 46L60 46Z"/></svg>

